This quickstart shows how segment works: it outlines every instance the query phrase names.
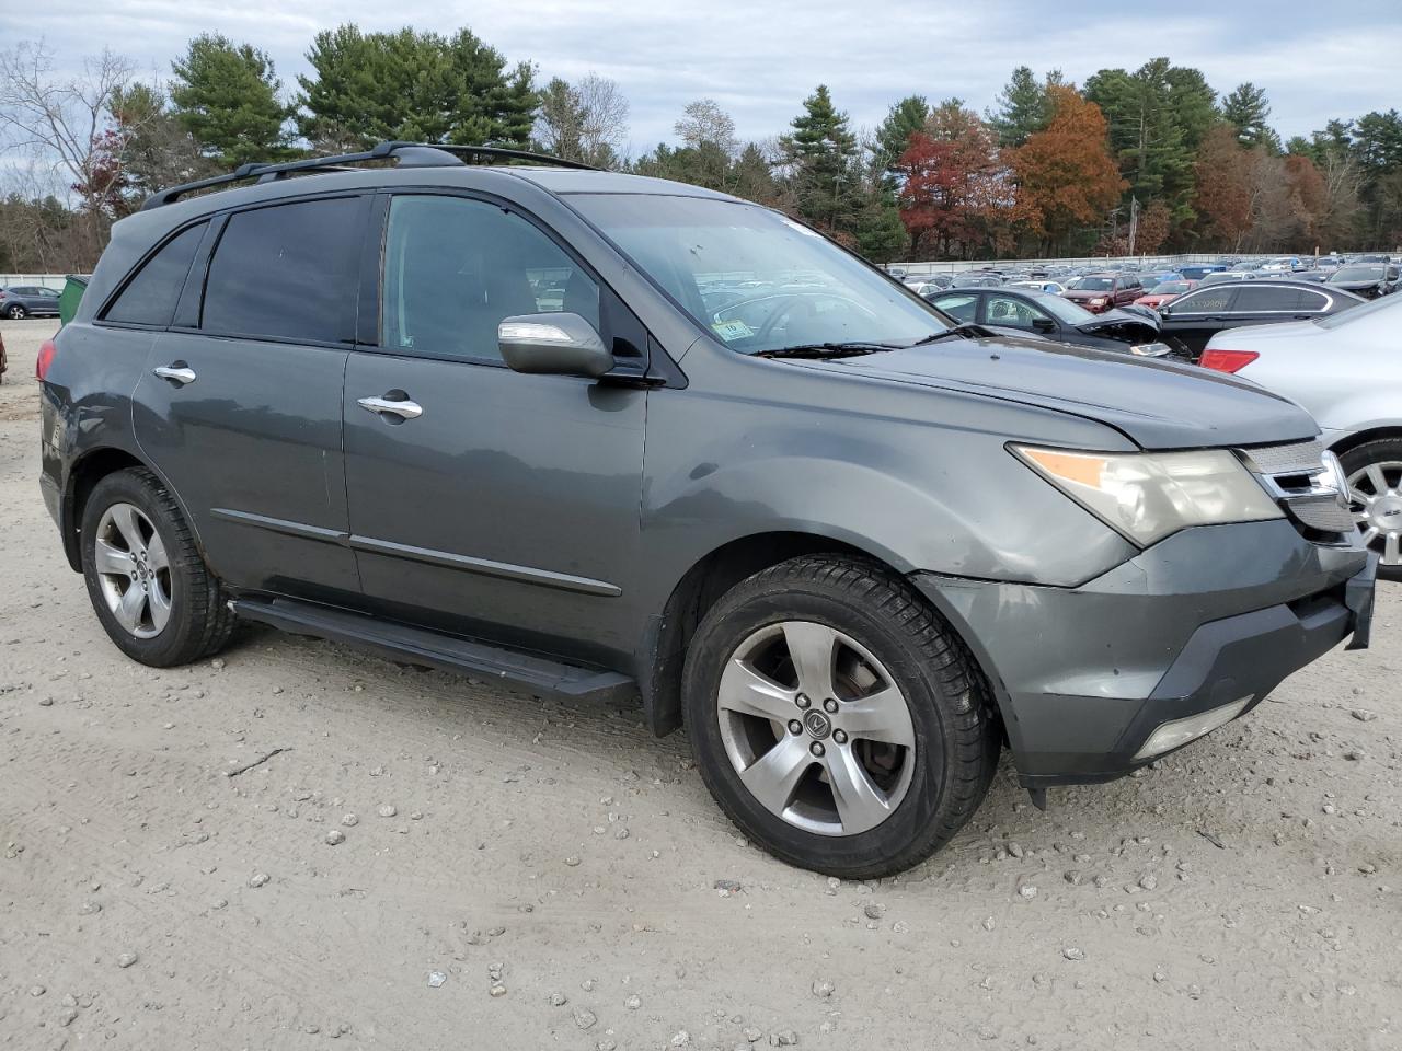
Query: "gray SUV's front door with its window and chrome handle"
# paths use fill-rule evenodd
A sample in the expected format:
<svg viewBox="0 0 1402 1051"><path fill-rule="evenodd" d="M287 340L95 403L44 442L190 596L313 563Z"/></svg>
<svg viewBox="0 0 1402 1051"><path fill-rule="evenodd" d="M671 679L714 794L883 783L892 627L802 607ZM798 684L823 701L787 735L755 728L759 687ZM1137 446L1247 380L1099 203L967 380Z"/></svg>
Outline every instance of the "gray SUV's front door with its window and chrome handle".
<svg viewBox="0 0 1402 1051"><path fill-rule="evenodd" d="M637 321L501 205L402 195L387 224L379 346L350 355L343 404L365 601L580 660L631 653L646 392L513 373L496 327L569 311L607 346Z"/></svg>

